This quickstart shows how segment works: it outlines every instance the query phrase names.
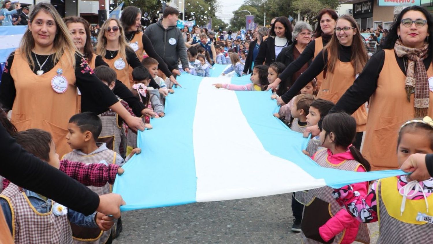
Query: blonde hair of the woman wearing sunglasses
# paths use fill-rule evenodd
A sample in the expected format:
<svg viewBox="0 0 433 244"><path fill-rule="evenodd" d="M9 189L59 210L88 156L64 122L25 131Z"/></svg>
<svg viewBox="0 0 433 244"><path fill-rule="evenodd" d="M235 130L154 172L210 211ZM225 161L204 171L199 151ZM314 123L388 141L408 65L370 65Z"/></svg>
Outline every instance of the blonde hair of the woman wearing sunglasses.
<svg viewBox="0 0 433 244"><path fill-rule="evenodd" d="M98 34L98 42L96 44L96 53L98 55L101 55L102 57L105 57L105 54L107 54L107 38L105 37L105 33L107 32L107 28L108 26L110 26L110 22L111 21L116 21L117 26L119 26L119 32L120 32L120 36L119 36L119 55L120 58L122 58L123 60L126 61L126 49L131 49L128 45L128 43L126 42L125 39L125 32L123 31L123 27L120 24L120 21L114 18L110 18L108 20L106 20L99 31ZM131 52L134 52L131 49Z"/></svg>

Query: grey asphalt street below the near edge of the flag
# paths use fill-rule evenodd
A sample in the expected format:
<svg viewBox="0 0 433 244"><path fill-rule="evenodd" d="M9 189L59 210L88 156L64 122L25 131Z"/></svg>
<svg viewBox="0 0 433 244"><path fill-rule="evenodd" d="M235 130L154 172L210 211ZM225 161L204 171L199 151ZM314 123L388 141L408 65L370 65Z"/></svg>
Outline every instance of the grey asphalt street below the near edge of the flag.
<svg viewBox="0 0 433 244"><path fill-rule="evenodd" d="M290 231L291 194L127 211L122 221L113 243L301 243ZM375 243L378 226L368 227Z"/></svg>

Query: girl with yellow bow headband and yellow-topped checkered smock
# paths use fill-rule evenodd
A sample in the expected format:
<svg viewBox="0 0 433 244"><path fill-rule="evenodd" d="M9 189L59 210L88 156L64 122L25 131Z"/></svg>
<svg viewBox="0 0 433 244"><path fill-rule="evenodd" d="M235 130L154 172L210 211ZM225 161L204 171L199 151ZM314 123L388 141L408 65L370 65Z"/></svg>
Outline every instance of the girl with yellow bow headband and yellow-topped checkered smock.
<svg viewBox="0 0 433 244"><path fill-rule="evenodd" d="M407 121L400 128L397 142L399 166L411 154L433 153L433 120L424 117ZM379 221L377 243L431 243L433 240L433 178L418 182L411 181L407 175L392 176L374 182L368 194L346 185L334 189L333 197L359 222ZM325 241L331 236L326 225L320 227Z"/></svg>

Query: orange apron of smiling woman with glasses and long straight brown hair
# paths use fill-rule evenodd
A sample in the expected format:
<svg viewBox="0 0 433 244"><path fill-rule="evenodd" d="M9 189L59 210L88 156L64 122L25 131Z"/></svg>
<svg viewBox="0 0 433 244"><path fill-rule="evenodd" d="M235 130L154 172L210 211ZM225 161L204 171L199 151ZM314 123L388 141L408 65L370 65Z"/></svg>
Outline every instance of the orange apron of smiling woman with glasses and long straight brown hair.
<svg viewBox="0 0 433 244"><path fill-rule="evenodd" d="M328 57L329 57L328 53ZM317 98L322 98L333 103L343 96L346 90L353 85L355 81L355 72L351 62L341 62L337 60L334 68L335 73L326 72L326 77L320 87ZM356 132L365 131L365 124L367 123L367 110L365 105L362 105L352 114L356 120Z"/></svg>

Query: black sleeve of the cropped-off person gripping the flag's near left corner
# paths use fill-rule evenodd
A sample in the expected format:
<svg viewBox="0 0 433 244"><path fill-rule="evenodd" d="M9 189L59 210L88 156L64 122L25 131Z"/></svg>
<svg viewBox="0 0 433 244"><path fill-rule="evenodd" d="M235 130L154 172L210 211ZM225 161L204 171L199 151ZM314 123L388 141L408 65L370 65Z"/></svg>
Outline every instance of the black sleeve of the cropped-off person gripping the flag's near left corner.
<svg viewBox="0 0 433 244"><path fill-rule="evenodd" d="M99 197L96 193L27 153L7 133L1 123L0 155L0 175L14 184L51 198L85 215L92 214L98 208Z"/></svg>

